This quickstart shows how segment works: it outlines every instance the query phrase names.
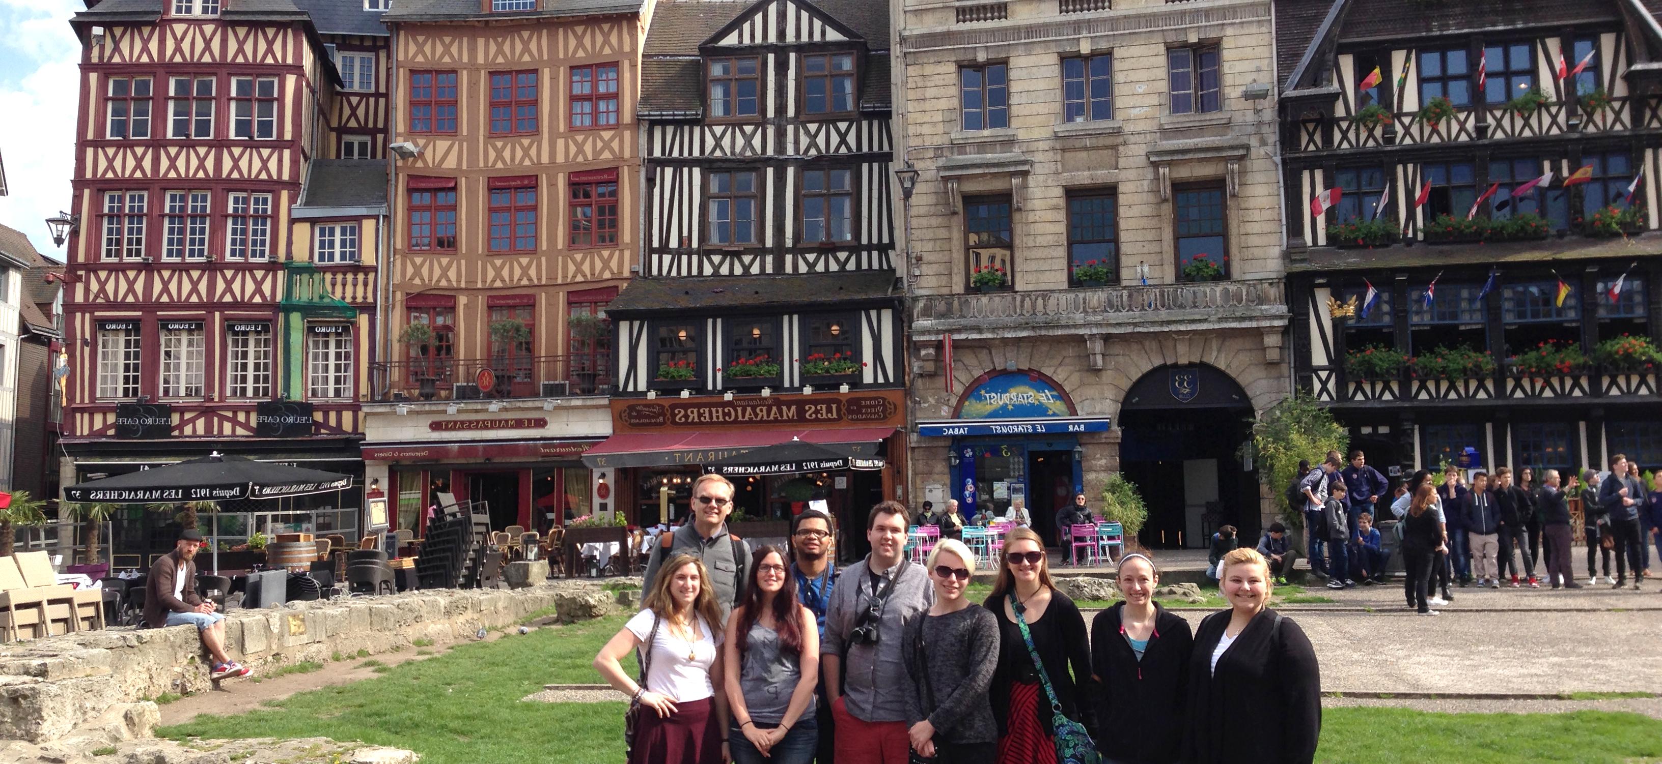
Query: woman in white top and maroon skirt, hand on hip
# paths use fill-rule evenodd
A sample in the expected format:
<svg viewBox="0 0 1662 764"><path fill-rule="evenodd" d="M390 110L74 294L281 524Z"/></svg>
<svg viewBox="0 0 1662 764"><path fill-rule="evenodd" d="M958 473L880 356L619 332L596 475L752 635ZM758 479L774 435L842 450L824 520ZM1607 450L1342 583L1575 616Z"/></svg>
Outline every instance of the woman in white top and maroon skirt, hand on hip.
<svg viewBox="0 0 1662 764"><path fill-rule="evenodd" d="M721 608L705 563L675 555L652 581L642 611L600 648L595 669L630 696L635 736L630 764L726 764L726 694L721 663ZM642 656L640 679L622 666Z"/></svg>

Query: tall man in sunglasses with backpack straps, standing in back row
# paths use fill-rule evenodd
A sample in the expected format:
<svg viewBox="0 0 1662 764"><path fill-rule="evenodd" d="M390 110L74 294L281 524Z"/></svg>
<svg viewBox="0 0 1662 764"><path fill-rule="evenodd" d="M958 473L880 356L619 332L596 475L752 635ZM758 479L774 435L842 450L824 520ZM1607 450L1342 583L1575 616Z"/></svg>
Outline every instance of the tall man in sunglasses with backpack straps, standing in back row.
<svg viewBox="0 0 1662 764"><path fill-rule="evenodd" d="M647 576L640 590L652 591L652 581L665 560L675 555L701 558L710 570L710 585L721 605L725 624L728 613L745 598L745 566L750 565L745 541L726 530L726 517L731 513L733 483L728 478L708 473L693 480L693 522L658 536L658 546L647 558Z"/></svg>

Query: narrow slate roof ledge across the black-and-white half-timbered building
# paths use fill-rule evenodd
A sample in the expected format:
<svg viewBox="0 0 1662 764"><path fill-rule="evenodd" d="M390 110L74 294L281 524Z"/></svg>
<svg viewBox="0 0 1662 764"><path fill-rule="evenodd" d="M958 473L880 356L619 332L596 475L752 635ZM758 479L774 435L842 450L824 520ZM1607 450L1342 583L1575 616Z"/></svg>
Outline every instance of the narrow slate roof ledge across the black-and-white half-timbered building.
<svg viewBox="0 0 1662 764"><path fill-rule="evenodd" d="M705 276L635 279L607 306L608 314L690 307L768 307L804 302L897 299L892 271L803 276Z"/></svg>

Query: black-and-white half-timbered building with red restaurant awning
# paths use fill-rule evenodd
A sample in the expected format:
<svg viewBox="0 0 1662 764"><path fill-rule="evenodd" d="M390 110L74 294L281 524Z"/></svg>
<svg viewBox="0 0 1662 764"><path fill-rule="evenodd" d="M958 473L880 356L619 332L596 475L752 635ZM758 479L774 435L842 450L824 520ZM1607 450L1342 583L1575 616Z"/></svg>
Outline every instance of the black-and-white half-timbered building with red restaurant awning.
<svg viewBox="0 0 1662 764"><path fill-rule="evenodd" d="M839 512L899 498L904 440L891 437L892 424L864 427L854 414L888 412L873 420L881 424L902 404L883 394L904 384L889 111L881 5L656 3L638 110L640 277L608 311L617 395L628 404L615 440L587 457L627 468L613 482L632 522L656 522L665 490L685 507L693 450L798 435L861 443L891 467L751 478L738 497L750 517L789 517L813 498ZM746 414L666 414L653 430L653 412L680 404L647 397L686 397L711 412L788 405L794 415L770 420L791 432ZM809 415L819 407L823 417Z"/></svg>

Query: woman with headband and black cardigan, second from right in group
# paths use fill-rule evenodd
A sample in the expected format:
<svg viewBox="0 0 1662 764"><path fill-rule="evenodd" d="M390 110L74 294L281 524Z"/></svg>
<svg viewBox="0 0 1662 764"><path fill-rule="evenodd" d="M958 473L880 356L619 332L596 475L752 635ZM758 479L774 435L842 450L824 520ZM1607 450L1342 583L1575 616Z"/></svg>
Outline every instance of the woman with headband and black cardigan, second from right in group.
<svg viewBox="0 0 1662 764"><path fill-rule="evenodd" d="M1105 761L1172 764L1183 732L1193 636L1188 621L1153 601L1160 570L1147 555L1120 558L1117 580L1125 600L1090 623L1092 734Z"/></svg>

